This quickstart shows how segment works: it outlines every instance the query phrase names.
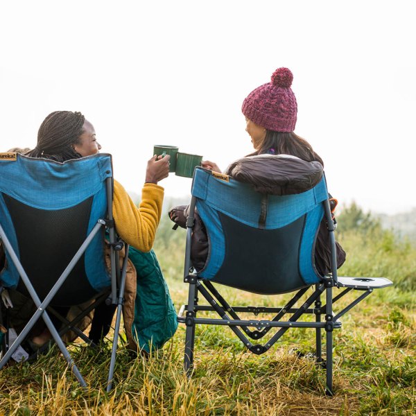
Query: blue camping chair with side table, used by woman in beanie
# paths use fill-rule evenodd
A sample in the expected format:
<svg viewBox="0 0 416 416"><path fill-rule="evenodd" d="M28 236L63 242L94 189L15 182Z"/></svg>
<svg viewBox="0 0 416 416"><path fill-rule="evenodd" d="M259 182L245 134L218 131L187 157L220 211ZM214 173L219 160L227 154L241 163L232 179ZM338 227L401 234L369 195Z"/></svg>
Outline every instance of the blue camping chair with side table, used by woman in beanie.
<svg viewBox="0 0 416 416"><path fill-rule="evenodd" d="M390 286L392 282L382 277L337 277L334 225L324 176L309 191L266 197L254 191L250 184L196 168L191 193L184 265L184 282L189 284L189 297L188 304L183 305L178 313L178 321L186 324L184 369L188 376L193 370L197 324L229 327L254 354L267 352L289 328L314 328L316 361L326 367L327 394L332 395L333 330L341 327L340 318L370 295L374 288ZM191 263L195 207L209 239L207 263L198 272ZM331 241L332 272L320 276L315 269L313 254L324 216ZM295 294L279 307L231 306L214 283L263 295ZM333 287L344 289L333 297ZM309 288L312 288L312 293L301 306L295 307ZM352 290L359 294L356 300L334 313L333 303ZM199 304L198 295L209 304ZM326 304L322 304L321 295L325 296ZM200 311L214 311L219 318L197 318ZM272 313L275 317L241 319L239 313ZM304 314L314 315L315 319L300 321ZM260 344L259 339L272 329L275 333L269 334L269 339ZM326 331L326 365L322 358L322 329Z"/></svg>

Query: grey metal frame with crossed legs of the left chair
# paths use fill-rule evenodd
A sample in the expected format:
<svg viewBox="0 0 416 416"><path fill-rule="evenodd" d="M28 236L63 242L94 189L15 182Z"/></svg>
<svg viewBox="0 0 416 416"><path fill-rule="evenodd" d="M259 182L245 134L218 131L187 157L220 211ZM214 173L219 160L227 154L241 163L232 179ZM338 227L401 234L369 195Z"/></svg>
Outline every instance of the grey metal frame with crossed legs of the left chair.
<svg viewBox="0 0 416 416"><path fill-rule="evenodd" d="M106 193L107 193L107 218L100 218L98 219L96 225L93 227L85 241L82 245L80 245L80 248L76 252L76 254L73 256L65 270L62 272L60 277L57 279L51 290L49 291L48 295L44 298L43 301L40 300L38 297L35 288L33 288L33 284L31 283L30 277L26 274L26 271L24 270L24 267L21 265L21 262L19 261L19 258L17 257L17 254L15 253L15 250L13 250L12 245L10 244L10 241L8 240L6 233L4 232L3 228L0 225L0 242L3 243L3 247L5 251L9 254L10 259L14 263L15 267L17 268L19 275L26 286L26 289L31 296L33 302L35 303L35 306L37 307L37 310L32 315L32 318L28 321L24 329L19 333L17 336L15 342L8 347L8 349L4 349L6 343L3 342L3 356L0 360L0 370L8 363L10 360L12 354L15 353L19 345L25 340L26 336L28 336L28 333L31 331L35 323L39 318L42 318L46 324L46 327L49 329L52 339L55 341L55 343L58 345L58 348L60 349L60 352L62 352L62 355L66 359L69 367L71 368L71 371L76 376L76 379L78 379L80 385L82 385L84 388L87 387L87 383L85 383L85 380L83 379L83 376L80 374L80 371L78 370L78 367L76 366L76 363L74 363L73 358L71 357L71 354L69 354L69 351L67 347L65 347L64 342L62 341L62 338L60 336L69 331L75 331L80 338L85 340L85 342L89 343L90 345L93 344L92 340L89 340L85 334L80 331L78 328L76 328L74 325L76 325L77 322L79 322L89 311L94 309L98 303L106 302L107 304L114 304L116 305L116 322L115 322L115 328L114 328L114 339L112 343L112 353L111 353L111 360L110 360L110 370L108 374L107 379L107 392L109 392L112 388L113 383L113 376L114 376L114 367L115 367L115 361L116 361L116 347L119 340L119 331L120 331L120 324L121 324L121 312L122 312L122 306L123 306L123 296L124 296L124 290L125 290L125 275L127 270L127 261L128 261L128 244L124 244L123 241L118 239L116 236L116 230L114 226L114 218L112 216L112 191L113 191L113 184L112 184L112 176L107 177L105 179L105 187L106 187ZM50 309L50 302L55 296L55 294L59 291L60 287L64 283L65 279L69 276L71 270L76 266L76 263L82 257L85 250L87 250L89 243L91 243L92 239L94 239L94 236L102 229L107 228L109 231L110 236L110 275L111 275L111 289L110 291L107 291L107 293L101 293L98 294L98 299L96 298L96 302L94 304L90 305L82 311L76 318L74 318L73 321L69 322L66 318L62 316L58 316L62 322L64 322L65 326L62 328L59 332L57 329L55 329L51 318L49 317L49 312L51 311L55 315L58 315L53 311L53 309ZM123 265L120 268L119 264L119 250L121 250L125 246L125 257L123 259ZM3 287L0 288L0 293L3 291ZM110 296L108 296L108 293L110 293ZM6 333L7 336L7 333Z"/></svg>

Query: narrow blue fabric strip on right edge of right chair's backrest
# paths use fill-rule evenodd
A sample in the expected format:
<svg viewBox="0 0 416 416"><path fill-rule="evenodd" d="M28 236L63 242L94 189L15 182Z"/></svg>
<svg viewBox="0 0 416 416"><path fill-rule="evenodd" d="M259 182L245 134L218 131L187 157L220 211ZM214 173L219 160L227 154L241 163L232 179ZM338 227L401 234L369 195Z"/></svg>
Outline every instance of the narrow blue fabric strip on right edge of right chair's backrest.
<svg viewBox="0 0 416 416"><path fill-rule="evenodd" d="M322 203L317 205L306 216L306 224L300 243L300 256L299 256L299 270L302 279L306 284L315 284L320 281L320 276L315 270L314 264L314 250L315 237L320 225L320 222L324 216L324 207Z"/></svg>

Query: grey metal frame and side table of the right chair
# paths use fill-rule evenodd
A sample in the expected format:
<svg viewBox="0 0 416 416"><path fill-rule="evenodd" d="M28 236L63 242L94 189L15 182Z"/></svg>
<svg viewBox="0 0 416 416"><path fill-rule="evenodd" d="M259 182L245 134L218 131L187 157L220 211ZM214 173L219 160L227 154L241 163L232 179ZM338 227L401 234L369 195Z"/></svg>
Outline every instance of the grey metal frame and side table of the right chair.
<svg viewBox="0 0 416 416"><path fill-rule="evenodd" d="M296 291L295 295L288 300L284 306L278 307L255 307L255 306L231 306L227 303L208 279L198 277L191 263L191 234L194 223L194 212L196 207L195 196L191 198L189 206L189 217L187 218L187 241L184 263L184 283L189 284L188 303L182 305L177 316L178 322L186 325L184 370L190 377L193 373L193 361L195 352L195 335L197 324L214 324L229 327L241 340L243 345L254 354L263 354L284 335L289 328L312 328L315 329L315 361L317 365L326 370L326 394L333 395L333 330L340 329L342 324L339 320L347 311L365 299L374 288L390 286L392 282L383 277L354 278L338 277L336 268L336 243L335 223L331 215L329 200L324 200L324 216L327 219L329 239L331 244L331 274L322 277L318 284L309 285ZM315 290L303 302L302 306L295 307L295 304L312 286ZM333 297L333 288L345 288L341 293ZM334 313L333 304L340 300L349 291L362 292L355 300L345 306L338 313ZM295 291L293 291L295 292ZM207 300L209 305L200 305L198 295ZM321 297L324 295L325 304L322 304ZM220 318L197 318L200 311L216 312ZM238 313L276 313L270 320L242 320ZM291 316L287 320L287 315ZM298 320L304 314L315 315L315 321ZM324 320L322 320L324 318ZM250 329L254 327L254 330ZM264 345L252 343L251 340L259 340L272 328L279 329ZM326 333L326 360L322 358L322 330ZM251 340L249 339L251 338Z"/></svg>

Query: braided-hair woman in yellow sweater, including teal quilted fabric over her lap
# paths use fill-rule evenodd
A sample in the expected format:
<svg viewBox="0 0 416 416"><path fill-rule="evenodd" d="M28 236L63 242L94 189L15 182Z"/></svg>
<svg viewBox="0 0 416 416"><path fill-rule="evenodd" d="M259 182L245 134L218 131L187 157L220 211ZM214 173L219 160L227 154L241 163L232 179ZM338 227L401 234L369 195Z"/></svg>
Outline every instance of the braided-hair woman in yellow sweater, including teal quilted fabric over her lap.
<svg viewBox="0 0 416 416"><path fill-rule="evenodd" d="M65 162L69 159L95 155L100 149L101 146L96 141L94 126L85 119L83 114L71 111L55 111L49 114L40 125L37 146L26 156ZM116 231L121 239L131 246L129 258L137 273L146 270L146 276L139 275L137 278L137 296L136 300L133 299L136 304L135 308L142 310L146 307L146 299L143 298L148 297L149 302L150 300L155 302L155 299L157 299L160 303L159 309L163 315L159 317L160 324L155 324L154 319L152 322L146 321L148 319L146 315L144 317L139 316L139 319L137 319L141 325L137 332L141 330L144 335L139 333L135 343L139 344L139 347L145 351L148 349L149 341L153 342L153 347L159 347L173 336L177 327L175 309L164 282L162 270L160 270L155 254L151 251L162 213L164 198L164 189L157 182L168 177L169 158L168 155L165 157L154 156L148 161L146 180L141 191L139 207L131 200L121 184L114 180L113 216ZM154 278L153 281L150 281L152 273ZM152 291L152 293L149 294L146 291ZM113 306L103 304L103 306L96 308L92 329L89 333L89 338L95 343L107 334L113 313ZM134 318L136 319L136 317ZM50 337L49 331L45 329L40 335L30 340L31 347L36 348L43 345ZM130 338L132 338L131 329ZM130 340L129 345L136 349L135 344L130 343Z"/></svg>

